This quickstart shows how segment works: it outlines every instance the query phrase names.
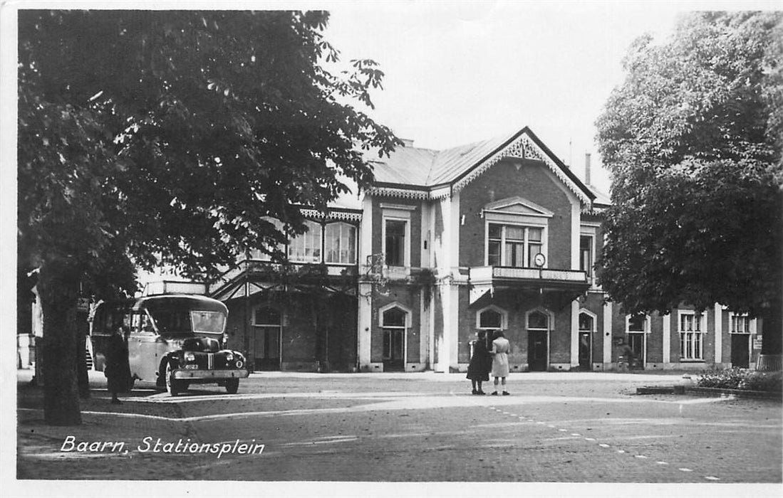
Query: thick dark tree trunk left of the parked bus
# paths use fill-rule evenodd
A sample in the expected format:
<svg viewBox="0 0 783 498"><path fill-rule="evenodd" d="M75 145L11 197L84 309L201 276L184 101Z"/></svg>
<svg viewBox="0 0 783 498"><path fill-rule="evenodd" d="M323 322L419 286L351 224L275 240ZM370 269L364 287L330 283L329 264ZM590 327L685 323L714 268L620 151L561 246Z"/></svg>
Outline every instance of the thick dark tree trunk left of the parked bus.
<svg viewBox="0 0 783 498"><path fill-rule="evenodd" d="M44 315L44 421L81 425L76 378L78 271L67 260L46 261L38 289Z"/></svg>

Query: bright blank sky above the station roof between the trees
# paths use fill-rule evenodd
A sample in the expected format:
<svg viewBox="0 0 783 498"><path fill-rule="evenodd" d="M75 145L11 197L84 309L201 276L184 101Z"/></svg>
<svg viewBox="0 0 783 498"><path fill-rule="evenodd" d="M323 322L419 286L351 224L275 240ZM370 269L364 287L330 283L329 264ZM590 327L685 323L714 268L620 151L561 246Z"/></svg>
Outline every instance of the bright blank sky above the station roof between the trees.
<svg viewBox="0 0 783 498"><path fill-rule="evenodd" d="M595 121L645 33L665 41L687 10L783 2L330 2L326 38L342 61L373 59L384 89L370 116L400 138L446 149L528 126L609 193Z"/></svg>

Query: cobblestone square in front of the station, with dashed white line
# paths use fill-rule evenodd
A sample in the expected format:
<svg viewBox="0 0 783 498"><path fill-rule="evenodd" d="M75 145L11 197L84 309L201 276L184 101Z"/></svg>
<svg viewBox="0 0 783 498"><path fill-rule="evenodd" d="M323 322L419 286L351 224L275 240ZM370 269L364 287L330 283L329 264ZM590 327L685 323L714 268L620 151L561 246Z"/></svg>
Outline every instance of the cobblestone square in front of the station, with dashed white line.
<svg viewBox="0 0 783 498"><path fill-rule="evenodd" d="M779 401L634 394L641 385L684 382L681 375L510 381L511 396L471 396L463 374L254 374L236 395L208 385L176 398L137 389L119 406L96 390L78 428L43 425L40 389L21 382L17 476L702 485L783 478ZM100 389L103 379L92 382ZM74 446L125 444L118 452L61 451L69 435ZM207 453L163 446L180 439ZM240 454L240 444L264 446ZM210 452L222 445L233 450Z"/></svg>

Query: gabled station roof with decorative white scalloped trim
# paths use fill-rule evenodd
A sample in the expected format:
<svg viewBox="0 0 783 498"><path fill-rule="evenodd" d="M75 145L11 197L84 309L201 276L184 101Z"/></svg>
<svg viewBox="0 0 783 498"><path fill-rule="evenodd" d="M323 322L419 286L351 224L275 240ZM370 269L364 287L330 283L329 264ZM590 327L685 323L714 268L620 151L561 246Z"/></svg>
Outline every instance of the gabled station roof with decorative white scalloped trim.
<svg viewBox="0 0 783 498"><path fill-rule="evenodd" d="M370 193L437 199L460 191L506 157L542 161L584 203L596 198L529 127L442 151L407 146L395 149L388 157L371 160L375 186Z"/></svg>

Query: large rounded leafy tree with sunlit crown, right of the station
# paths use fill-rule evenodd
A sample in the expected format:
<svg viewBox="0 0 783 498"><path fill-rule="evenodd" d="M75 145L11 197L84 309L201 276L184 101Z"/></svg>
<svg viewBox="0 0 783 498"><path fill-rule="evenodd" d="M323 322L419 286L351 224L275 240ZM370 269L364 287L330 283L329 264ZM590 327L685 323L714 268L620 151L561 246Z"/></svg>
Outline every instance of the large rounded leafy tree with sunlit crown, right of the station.
<svg viewBox="0 0 783 498"><path fill-rule="evenodd" d="M714 303L781 353L783 15L691 13L631 46L597 120L612 171L601 284L628 313Z"/></svg>

